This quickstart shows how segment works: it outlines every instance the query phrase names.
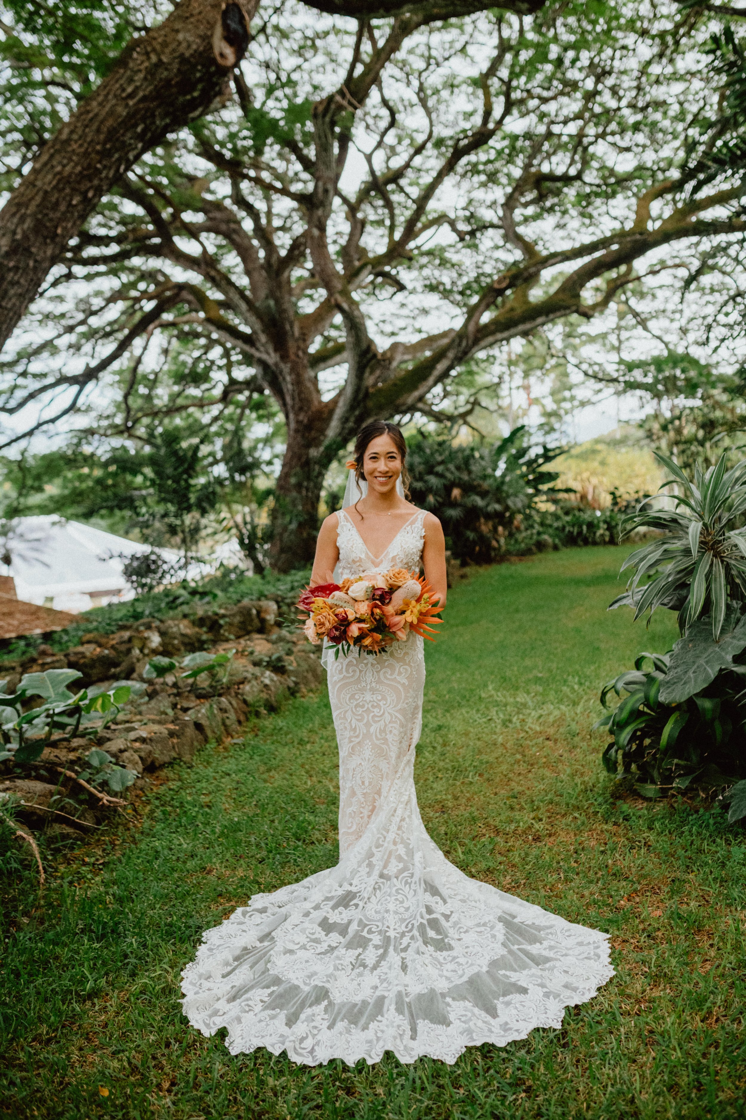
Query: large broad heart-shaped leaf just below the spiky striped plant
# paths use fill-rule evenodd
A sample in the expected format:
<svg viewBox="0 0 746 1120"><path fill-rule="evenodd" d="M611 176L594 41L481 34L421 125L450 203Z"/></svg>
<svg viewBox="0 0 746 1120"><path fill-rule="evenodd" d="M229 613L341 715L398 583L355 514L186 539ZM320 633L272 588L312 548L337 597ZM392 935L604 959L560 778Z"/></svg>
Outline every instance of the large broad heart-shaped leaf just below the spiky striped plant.
<svg viewBox="0 0 746 1120"><path fill-rule="evenodd" d="M737 620L738 610L731 605L725 622L726 633L719 642L712 640L708 619L692 623L684 637L673 646L669 670L661 683L661 703L682 703L706 689L723 669L730 668L733 659L746 648L746 617Z"/></svg>

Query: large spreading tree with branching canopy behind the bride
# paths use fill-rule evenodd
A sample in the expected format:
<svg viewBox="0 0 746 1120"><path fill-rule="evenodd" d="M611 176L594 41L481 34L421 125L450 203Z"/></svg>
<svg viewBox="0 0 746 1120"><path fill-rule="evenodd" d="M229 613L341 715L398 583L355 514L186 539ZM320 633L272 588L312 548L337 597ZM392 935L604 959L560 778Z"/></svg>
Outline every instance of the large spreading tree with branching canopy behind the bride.
<svg viewBox="0 0 746 1120"><path fill-rule="evenodd" d="M306 562L324 473L361 422L416 411L507 339L592 319L677 263L671 246L743 234L738 177L701 172L723 127L689 18L620 0L350 26L285 4L237 103L141 160L72 242L86 299L9 363L3 407L62 393L67 411L115 376L110 431L132 435L155 408L144 344L204 336L211 383L162 410L274 396L274 559ZM45 345L68 347L56 368Z"/></svg>

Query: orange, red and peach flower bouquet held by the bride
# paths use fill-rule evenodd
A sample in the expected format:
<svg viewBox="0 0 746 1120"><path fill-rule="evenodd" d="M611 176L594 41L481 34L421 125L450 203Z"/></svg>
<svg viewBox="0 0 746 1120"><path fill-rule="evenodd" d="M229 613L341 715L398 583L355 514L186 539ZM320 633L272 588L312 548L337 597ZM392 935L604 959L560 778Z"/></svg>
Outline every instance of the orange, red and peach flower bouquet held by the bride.
<svg viewBox="0 0 746 1120"><path fill-rule="evenodd" d="M431 623L442 623L435 615L442 607L432 601L432 587L426 579L405 568L367 572L341 584L306 587L298 605L308 618L303 629L310 642L322 638L349 653L385 653L395 642L406 641L414 632L434 638Z"/></svg>

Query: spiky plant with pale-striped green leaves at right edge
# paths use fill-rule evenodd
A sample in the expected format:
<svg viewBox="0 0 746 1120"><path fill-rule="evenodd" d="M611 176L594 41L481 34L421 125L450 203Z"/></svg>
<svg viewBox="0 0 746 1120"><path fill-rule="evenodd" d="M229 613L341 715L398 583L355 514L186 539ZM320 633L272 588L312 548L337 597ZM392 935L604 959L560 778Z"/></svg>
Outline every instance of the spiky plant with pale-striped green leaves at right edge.
<svg viewBox="0 0 746 1120"><path fill-rule="evenodd" d="M623 535L634 530L659 530L662 538L632 552L622 571L634 568L625 595L612 606L627 604L635 618L658 607L679 610L686 634L691 623L709 615L717 642L728 601L746 600L746 460L726 470L726 456L708 470L695 467L695 480L667 456L655 452L679 493L672 510L652 510L645 498L623 524ZM645 579L650 577L649 581Z"/></svg>

